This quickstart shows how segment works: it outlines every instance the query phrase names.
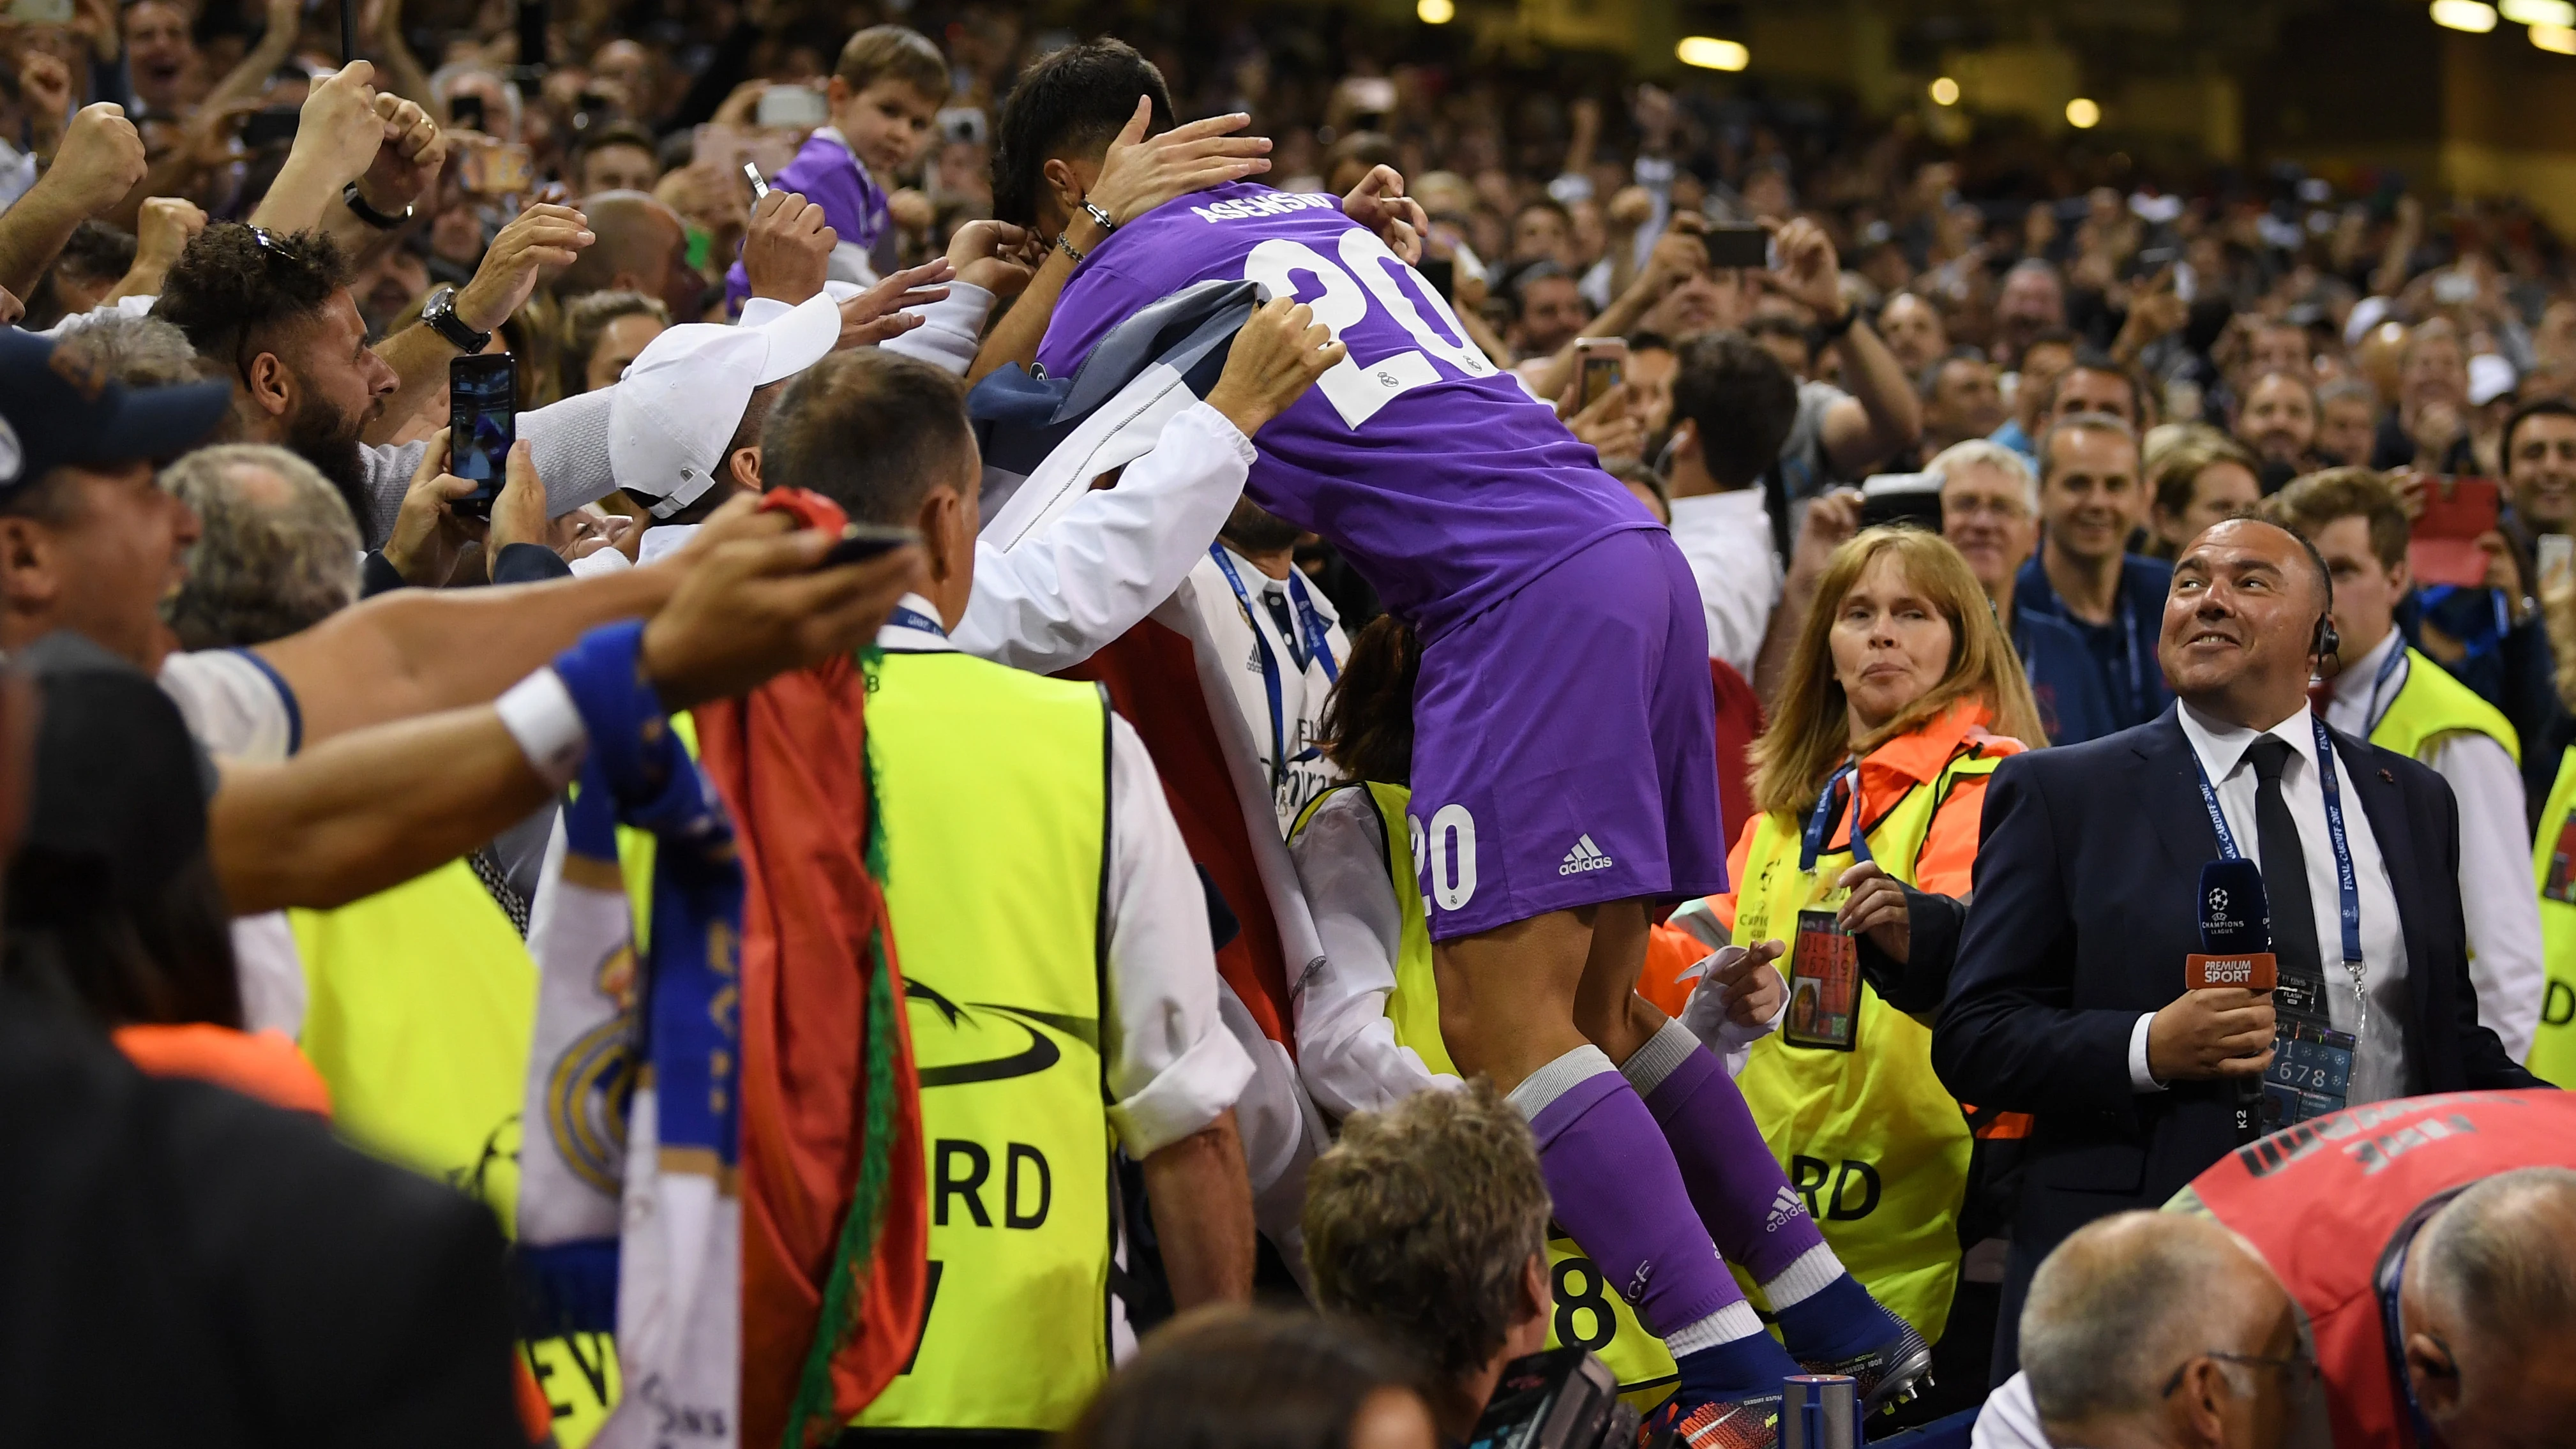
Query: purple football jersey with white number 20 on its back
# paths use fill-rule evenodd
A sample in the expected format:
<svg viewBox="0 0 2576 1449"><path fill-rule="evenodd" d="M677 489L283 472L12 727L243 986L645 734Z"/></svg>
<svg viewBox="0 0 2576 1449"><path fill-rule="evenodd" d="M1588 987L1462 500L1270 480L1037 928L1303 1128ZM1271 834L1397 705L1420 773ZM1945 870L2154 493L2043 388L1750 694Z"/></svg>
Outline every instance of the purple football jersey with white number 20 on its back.
<svg viewBox="0 0 2576 1449"><path fill-rule="evenodd" d="M1118 226L1066 283L1038 363L1066 376L1128 314L1211 278L1293 291L1350 345L1262 427L1244 494L1337 543L1425 636L1600 538L1654 528L1334 196L1231 183Z"/></svg>

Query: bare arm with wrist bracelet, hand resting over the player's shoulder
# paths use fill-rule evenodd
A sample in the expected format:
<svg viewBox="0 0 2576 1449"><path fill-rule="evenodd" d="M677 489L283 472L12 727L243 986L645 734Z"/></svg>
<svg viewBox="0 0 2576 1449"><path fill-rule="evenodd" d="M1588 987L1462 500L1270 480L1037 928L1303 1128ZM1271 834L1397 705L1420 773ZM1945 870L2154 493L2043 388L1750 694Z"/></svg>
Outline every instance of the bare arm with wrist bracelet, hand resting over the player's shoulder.
<svg viewBox="0 0 2576 1449"><path fill-rule="evenodd" d="M984 347L976 353L974 365L966 368L966 386L984 381L984 373L1002 368L1007 363L1020 363L1023 368L1038 360L1038 342L1046 337L1046 324L1056 317L1056 301L1064 296L1064 283L1074 281L1074 268L1082 265L1079 257L1090 257L1100 242L1110 234L1092 219L1084 203L1097 206L1113 224L1126 224L1146 211L1154 211L1175 196L1188 196L1193 190L1208 190L1211 185L1224 185L1229 180L1244 180L1247 175L1262 175L1270 170L1270 139L1267 136L1234 136L1252 124L1252 116L1242 111L1231 116L1211 116L1206 121L1190 121L1188 126L1175 126L1159 136L1146 136L1144 129L1154 121L1154 106L1146 98L1136 98L1136 116L1128 118L1126 131L1110 142L1108 152L1100 157L1100 180L1092 188L1072 190L1048 178L1056 188L1056 201L1064 206L1069 221L1064 234L1046 252L1046 265L1038 275L1028 278L1028 291L1012 304L1010 314L994 324L992 335L984 337ZM1069 178L1072 172L1066 172Z"/></svg>

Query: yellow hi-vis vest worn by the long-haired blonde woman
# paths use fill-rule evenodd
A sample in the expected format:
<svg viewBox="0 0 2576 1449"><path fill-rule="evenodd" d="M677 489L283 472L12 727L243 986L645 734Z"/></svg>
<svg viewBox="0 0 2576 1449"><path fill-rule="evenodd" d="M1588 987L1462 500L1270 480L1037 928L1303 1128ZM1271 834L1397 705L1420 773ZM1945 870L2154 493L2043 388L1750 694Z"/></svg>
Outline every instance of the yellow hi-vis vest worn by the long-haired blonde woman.
<svg viewBox="0 0 2576 1449"><path fill-rule="evenodd" d="M1971 744L1932 782L1906 790L1868 829L1878 865L1911 885L1914 857L1950 788L1996 764L1999 754ZM1801 818L1780 811L1754 824L1731 939L1793 942L1798 911L1824 901L1852 867L1852 852L1839 849L1816 854L1816 870L1798 870L1801 829ZM1754 1042L1736 1086L1842 1266L1924 1341L1940 1341L1958 1289L1958 1210L1973 1143L1958 1099L1932 1073L1932 1032L1862 983L1850 1053L1770 1035ZM1741 1269L1736 1279L1767 1307L1759 1284Z"/></svg>

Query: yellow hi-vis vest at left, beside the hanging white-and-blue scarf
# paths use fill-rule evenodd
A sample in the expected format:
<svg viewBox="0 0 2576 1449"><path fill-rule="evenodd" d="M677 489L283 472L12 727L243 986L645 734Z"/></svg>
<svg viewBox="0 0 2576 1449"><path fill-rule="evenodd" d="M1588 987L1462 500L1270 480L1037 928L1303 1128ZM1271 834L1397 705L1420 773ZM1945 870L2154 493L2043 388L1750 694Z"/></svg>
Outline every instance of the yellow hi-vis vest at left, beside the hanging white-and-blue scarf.
<svg viewBox="0 0 2576 1449"><path fill-rule="evenodd" d="M289 911L304 957L304 1055L350 1140L518 1217L518 1114L536 963L474 867L451 860L337 911ZM618 1398L608 1333L520 1343L580 1449Z"/></svg>

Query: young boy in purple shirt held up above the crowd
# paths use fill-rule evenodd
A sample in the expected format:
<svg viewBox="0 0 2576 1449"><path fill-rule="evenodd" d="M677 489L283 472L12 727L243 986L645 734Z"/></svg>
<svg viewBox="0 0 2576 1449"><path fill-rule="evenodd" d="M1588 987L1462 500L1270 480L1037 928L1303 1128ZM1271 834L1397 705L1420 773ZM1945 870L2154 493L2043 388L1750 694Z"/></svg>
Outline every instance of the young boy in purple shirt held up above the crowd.
<svg viewBox="0 0 2576 1449"><path fill-rule="evenodd" d="M832 281L876 286L894 270L894 226L886 196L894 178L930 149L933 118L948 103L948 59L930 36L904 26L868 26L840 46L824 88L832 124L819 126L796 160L770 178L822 206L832 226ZM726 309L742 311L752 283L742 260L724 273Z"/></svg>

